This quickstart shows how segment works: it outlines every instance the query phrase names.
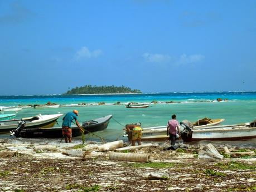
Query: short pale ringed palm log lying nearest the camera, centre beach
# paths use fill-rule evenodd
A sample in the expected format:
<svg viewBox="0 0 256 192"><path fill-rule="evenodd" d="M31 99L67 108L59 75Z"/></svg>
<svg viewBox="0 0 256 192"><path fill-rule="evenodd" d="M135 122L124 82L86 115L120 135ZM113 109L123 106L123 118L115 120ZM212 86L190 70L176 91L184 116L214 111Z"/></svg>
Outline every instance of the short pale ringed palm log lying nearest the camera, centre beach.
<svg viewBox="0 0 256 192"><path fill-rule="evenodd" d="M110 152L109 160L149 162L149 155L148 154L137 154L137 153L125 154L123 152Z"/></svg>

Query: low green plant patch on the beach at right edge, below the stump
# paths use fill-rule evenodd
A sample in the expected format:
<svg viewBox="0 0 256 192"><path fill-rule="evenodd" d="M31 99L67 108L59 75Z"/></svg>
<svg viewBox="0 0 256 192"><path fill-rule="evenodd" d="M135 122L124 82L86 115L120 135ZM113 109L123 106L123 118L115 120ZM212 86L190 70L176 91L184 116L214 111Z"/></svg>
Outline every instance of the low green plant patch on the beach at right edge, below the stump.
<svg viewBox="0 0 256 192"><path fill-rule="evenodd" d="M229 163L223 164L223 163L218 163L216 164L217 166L219 166L219 168L223 169L223 170L255 170L256 169L256 165L248 165L245 163L239 163L236 161L231 161Z"/></svg>

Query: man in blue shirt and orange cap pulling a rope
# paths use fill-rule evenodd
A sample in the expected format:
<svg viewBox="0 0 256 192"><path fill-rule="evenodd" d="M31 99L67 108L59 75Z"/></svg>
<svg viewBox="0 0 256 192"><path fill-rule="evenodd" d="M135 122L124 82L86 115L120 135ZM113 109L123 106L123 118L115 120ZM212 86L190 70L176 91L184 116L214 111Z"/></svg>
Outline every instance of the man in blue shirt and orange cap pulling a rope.
<svg viewBox="0 0 256 192"><path fill-rule="evenodd" d="M78 122L78 111L74 110L73 112L68 112L63 117L62 122L62 135L65 137L65 142L69 141L71 142L72 138L72 129L71 129L71 122L75 120L75 124L78 126L81 132L84 132L84 130L81 128L79 122Z"/></svg>

